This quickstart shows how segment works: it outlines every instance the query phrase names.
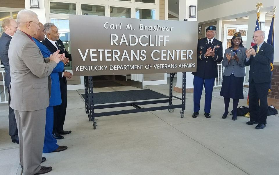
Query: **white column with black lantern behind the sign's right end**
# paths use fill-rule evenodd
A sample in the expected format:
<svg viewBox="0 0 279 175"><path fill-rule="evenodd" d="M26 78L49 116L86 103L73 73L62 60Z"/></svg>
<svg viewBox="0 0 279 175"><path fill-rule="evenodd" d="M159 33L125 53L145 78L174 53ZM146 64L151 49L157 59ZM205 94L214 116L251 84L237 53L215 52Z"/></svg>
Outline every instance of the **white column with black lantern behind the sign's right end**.
<svg viewBox="0 0 279 175"><path fill-rule="evenodd" d="M189 6L196 6L196 18L189 18ZM197 21L198 14L198 1L197 0L179 0L179 21L187 19L188 21ZM186 21L185 21L186 22ZM197 31L198 32L198 31ZM196 38L198 39L198 38ZM186 73L186 89L193 88L194 75L191 72ZM182 73L177 73L176 86L182 89Z"/></svg>

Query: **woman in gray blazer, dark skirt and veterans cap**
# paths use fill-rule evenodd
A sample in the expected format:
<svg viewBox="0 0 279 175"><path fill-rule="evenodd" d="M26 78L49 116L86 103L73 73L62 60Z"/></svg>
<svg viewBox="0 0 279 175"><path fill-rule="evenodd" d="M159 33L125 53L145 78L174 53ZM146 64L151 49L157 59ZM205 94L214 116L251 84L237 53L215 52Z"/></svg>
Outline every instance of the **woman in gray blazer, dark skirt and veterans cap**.
<svg viewBox="0 0 279 175"><path fill-rule="evenodd" d="M225 50L222 64L225 67L223 72L223 83L220 96L225 99L225 112L222 119L226 119L229 113L230 98L233 99L232 120L237 119L237 105L239 99L243 99L243 82L245 77L246 48L242 45L240 32L233 35L230 41L231 47Z"/></svg>

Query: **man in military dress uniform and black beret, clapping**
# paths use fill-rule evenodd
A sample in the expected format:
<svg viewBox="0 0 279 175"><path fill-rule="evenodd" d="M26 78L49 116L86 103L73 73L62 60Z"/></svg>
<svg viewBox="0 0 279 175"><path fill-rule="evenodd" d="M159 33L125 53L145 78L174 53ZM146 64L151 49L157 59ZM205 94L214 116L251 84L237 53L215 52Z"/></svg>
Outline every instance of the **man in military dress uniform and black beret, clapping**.
<svg viewBox="0 0 279 175"><path fill-rule="evenodd" d="M206 38L198 40L197 71L194 75L194 113L193 118L198 117L200 110L203 85L205 88L204 115L210 118L212 92L215 78L218 77L217 62L223 60L222 42L215 39L215 26L208 26Z"/></svg>

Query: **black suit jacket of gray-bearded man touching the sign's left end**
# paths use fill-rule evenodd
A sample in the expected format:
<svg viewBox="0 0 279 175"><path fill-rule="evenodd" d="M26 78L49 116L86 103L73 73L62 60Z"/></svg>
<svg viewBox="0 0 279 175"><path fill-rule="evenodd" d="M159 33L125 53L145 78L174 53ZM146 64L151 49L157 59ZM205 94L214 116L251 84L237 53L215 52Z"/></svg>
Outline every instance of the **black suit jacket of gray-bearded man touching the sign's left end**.
<svg viewBox="0 0 279 175"><path fill-rule="evenodd" d="M61 40L56 40L56 42L57 42L57 44L59 45L59 49L60 49L60 54L63 54L63 53L65 53L65 57L66 58L69 58L69 60L70 61L72 61L72 56L71 56L71 54L69 54L68 52L67 52L67 50L65 49L65 46L63 45L63 43L62 43L62 41ZM42 41L42 44L43 45L45 45L47 48L48 48L48 50L51 52L51 54L53 54L54 52L56 52L57 51L57 49L56 49L56 47L47 39L47 38L45 38L43 41ZM65 69L63 70L63 72L65 72ZM59 72L58 73L59 74L59 79L60 79L60 81L62 81L61 79L63 79L63 81L65 82L65 83L67 83L67 79L66 79L66 77L62 77L62 72ZM62 77L62 78L61 78Z"/></svg>

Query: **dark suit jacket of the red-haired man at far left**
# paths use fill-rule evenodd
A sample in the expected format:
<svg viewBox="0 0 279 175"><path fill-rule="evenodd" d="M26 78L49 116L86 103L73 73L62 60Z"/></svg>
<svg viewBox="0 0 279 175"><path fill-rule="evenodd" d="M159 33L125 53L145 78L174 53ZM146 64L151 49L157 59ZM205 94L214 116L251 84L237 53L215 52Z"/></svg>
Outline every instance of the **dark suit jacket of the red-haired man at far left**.
<svg viewBox="0 0 279 175"><path fill-rule="evenodd" d="M5 80L5 85L8 89L9 89L10 82L11 82L10 63L9 63L9 57L8 57L8 50L9 50L11 40L12 40L12 37L7 35L6 33L3 33L0 38L0 57L1 57L1 61L4 65L4 69L6 72L4 80Z"/></svg>

